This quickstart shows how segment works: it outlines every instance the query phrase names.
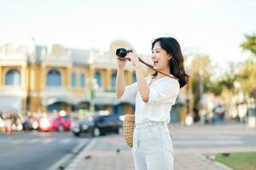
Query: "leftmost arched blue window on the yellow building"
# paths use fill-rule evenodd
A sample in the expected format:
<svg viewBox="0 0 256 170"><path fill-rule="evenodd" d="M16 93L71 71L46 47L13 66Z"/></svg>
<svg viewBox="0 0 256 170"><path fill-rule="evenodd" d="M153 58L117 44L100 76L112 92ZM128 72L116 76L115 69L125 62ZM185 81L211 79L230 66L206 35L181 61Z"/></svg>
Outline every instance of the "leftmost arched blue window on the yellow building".
<svg viewBox="0 0 256 170"><path fill-rule="evenodd" d="M20 86L20 71L11 69L5 75L5 85Z"/></svg>

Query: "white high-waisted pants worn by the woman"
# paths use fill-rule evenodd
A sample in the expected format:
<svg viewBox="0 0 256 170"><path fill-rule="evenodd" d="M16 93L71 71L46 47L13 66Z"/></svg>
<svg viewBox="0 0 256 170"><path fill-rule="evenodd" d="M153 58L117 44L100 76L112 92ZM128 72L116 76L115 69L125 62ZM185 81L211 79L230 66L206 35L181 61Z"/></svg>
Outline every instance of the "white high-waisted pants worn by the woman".
<svg viewBox="0 0 256 170"><path fill-rule="evenodd" d="M172 139L164 122L137 124L131 150L136 170L173 170Z"/></svg>

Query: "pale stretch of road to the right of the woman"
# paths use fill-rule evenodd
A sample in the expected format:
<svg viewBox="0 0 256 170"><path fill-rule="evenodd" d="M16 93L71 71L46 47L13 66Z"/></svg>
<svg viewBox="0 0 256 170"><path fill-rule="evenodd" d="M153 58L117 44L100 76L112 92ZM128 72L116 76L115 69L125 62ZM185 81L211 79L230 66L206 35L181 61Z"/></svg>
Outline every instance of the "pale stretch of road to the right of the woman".
<svg viewBox="0 0 256 170"><path fill-rule="evenodd" d="M177 153L256 151L256 129L245 124L171 125L169 130Z"/></svg>

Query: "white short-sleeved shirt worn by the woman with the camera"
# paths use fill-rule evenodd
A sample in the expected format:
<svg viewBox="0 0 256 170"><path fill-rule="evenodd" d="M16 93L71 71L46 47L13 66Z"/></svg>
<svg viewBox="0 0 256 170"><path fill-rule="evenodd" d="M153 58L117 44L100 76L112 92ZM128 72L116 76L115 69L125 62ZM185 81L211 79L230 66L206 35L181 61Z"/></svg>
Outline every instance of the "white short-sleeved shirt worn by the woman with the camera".
<svg viewBox="0 0 256 170"><path fill-rule="evenodd" d="M148 84L153 76L146 77ZM170 122L170 111L179 93L179 83L170 77L161 77L149 85L148 102L145 103L138 91L137 82L125 87L120 101L135 102L135 122Z"/></svg>

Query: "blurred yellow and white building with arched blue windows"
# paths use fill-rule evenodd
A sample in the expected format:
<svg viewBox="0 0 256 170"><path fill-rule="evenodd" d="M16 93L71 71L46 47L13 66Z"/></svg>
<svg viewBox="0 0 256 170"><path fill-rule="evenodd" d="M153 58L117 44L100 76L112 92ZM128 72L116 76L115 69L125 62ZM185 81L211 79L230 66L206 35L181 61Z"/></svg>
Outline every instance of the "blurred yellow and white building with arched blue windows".
<svg viewBox="0 0 256 170"><path fill-rule="evenodd" d="M132 112L133 104L115 99L116 48L129 48L123 41L112 42L108 52L5 44L0 48L0 111L90 111ZM136 80L129 62L125 82ZM147 71L145 69L145 71Z"/></svg>

